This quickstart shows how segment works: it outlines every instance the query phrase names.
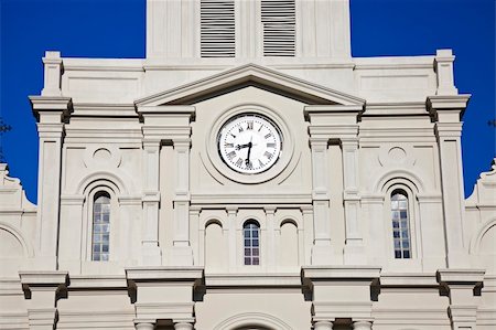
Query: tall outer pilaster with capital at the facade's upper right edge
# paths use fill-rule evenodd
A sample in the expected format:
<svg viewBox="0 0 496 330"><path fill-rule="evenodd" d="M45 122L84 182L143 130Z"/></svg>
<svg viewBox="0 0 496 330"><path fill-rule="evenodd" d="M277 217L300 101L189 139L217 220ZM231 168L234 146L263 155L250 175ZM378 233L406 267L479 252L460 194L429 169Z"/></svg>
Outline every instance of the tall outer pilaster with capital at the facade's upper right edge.
<svg viewBox="0 0 496 330"><path fill-rule="evenodd" d="M468 248L463 237L465 199L461 146L462 123L460 121L468 98L468 95L428 98L431 116L436 120L435 136L441 168L444 231L450 268L470 265Z"/></svg>

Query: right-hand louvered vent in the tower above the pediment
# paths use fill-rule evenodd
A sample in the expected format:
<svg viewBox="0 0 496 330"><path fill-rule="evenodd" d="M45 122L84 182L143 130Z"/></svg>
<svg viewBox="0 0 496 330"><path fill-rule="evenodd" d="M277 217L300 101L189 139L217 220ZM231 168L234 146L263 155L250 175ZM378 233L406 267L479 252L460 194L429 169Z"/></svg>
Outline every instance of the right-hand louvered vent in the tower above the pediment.
<svg viewBox="0 0 496 330"><path fill-rule="evenodd" d="M263 55L294 56L294 0L262 0Z"/></svg>

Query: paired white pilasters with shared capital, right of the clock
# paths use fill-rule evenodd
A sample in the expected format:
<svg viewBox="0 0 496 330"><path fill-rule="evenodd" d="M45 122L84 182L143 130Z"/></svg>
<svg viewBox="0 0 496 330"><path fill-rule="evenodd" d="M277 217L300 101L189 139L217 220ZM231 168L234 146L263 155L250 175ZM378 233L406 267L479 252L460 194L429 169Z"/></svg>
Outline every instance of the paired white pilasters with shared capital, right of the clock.
<svg viewBox="0 0 496 330"><path fill-rule="evenodd" d="M330 234L332 231L328 217L328 177L332 171L328 166L326 148L330 142L338 141L343 155L343 199L345 214L345 248L343 252L345 264L365 264L366 254L362 237L359 223L360 198L358 182L358 124L357 116L362 111L360 105L331 105L331 106L306 106L305 117L310 121L310 146L312 149L312 174L313 174L313 203L315 221L315 243L312 252L312 265L337 264L336 257L330 248L322 249L320 246L331 246ZM325 214L327 213L327 214ZM325 222L321 219L325 217ZM319 222L320 221L320 222ZM322 251L326 251L322 257ZM317 256L317 257L314 257ZM331 262L334 258L333 262Z"/></svg>

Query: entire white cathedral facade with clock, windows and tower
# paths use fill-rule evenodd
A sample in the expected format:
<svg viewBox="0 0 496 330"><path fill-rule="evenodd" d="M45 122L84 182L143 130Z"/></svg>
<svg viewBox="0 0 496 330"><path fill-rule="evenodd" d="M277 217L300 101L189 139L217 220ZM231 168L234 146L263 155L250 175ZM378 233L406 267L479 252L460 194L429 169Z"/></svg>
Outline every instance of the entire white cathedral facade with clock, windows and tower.
<svg viewBox="0 0 496 330"><path fill-rule="evenodd" d="M352 57L348 0L149 0L145 58L43 63L0 329L495 329L450 50Z"/></svg>

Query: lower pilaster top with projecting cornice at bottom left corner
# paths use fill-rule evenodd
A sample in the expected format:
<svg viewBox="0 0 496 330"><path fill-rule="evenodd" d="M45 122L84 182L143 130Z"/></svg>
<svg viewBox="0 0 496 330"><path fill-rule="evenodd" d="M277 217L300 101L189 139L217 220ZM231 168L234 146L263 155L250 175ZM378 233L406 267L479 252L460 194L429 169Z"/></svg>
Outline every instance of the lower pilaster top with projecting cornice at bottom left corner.
<svg viewBox="0 0 496 330"><path fill-rule="evenodd" d="M57 294L66 288L67 272L20 272L26 290L28 319L32 330L53 330L56 327Z"/></svg>

